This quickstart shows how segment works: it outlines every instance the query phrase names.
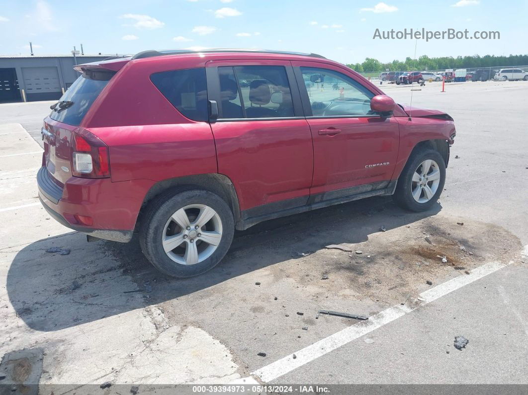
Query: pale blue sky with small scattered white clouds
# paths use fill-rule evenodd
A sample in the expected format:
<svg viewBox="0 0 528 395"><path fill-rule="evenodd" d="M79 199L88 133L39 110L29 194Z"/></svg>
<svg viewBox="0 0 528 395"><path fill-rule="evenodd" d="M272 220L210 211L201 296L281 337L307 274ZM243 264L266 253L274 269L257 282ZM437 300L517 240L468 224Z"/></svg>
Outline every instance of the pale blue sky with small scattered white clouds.
<svg viewBox="0 0 528 395"><path fill-rule="evenodd" d="M415 40L376 28L499 31L500 40L418 40L417 56L528 52L528 1L74 0L0 1L0 54L136 53L186 47L315 52L343 63L414 56ZM504 9L504 12L499 11Z"/></svg>

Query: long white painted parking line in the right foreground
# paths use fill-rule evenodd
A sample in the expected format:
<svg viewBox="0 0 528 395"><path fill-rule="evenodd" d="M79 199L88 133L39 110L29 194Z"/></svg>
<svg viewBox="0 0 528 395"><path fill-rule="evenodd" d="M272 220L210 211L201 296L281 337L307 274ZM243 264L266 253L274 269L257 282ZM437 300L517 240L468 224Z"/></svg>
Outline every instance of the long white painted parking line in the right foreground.
<svg viewBox="0 0 528 395"><path fill-rule="evenodd" d="M525 246L522 252L523 256L528 256L528 246ZM306 346L304 349L295 352L296 358L294 359L294 354L287 355L284 358L279 359L278 361L272 362L269 365L260 368L251 374L255 377L260 378L263 382L270 382L275 380L282 375L291 372L294 369L297 369L309 362L312 362L316 358L322 357L342 345L350 343L351 341L360 338L367 333L370 333L379 327L386 325L394 320L399 319L400 317L411 313L412 311L418 309L418 307L425 306L432 301L437 300L439 297L445 296L453 291L458 290L459 288L473 283L474 281L479 280L488 274L496 272L503 267L506 267L510 263L498 263L491 262L479 266L473 269L469 274L460 275L458 277L452 278L445 283L437 285L430 288L429 290L422 292L420 300L413 300L416 307L409 307L406 305L395 305L389 307L389 309L383 310L377 314L372 315L366 321L361 321L354 325L348 326L345 329L334 333L333 335L328 336L325 339L319 340L313 344Z"/></svg>

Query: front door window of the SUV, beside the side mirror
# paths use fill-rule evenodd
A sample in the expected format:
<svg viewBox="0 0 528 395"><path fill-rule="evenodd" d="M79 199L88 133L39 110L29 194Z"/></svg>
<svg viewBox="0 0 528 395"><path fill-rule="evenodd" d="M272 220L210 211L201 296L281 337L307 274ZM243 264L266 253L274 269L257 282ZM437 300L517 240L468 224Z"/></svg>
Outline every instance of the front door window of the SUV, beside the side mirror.
<svg viewBox="0 0 528 395"><path fill-rule="evenodd" d="M374 93L352 78L327 69L301 67L314 117L369 115Z"/></svg>

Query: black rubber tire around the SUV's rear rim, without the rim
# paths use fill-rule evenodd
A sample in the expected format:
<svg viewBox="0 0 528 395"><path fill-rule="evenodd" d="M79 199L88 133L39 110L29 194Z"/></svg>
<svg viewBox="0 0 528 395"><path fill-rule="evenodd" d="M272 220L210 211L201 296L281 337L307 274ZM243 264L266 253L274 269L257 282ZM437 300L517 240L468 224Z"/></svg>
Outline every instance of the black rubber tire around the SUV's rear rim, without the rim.
<svg viewBox="0 0 528 395"><path fill-rule="evenodd" d="M162 234L168 219L178 209L192 204L206 205L216 211L222 223L222 237L211 256L193 265L183 265L165 253ZM233 213L227 203L210 191L187 187L167 191L148 205L139 230L139 243L143 254L159 271L172 277L185 278L202 274L216 266L228 252L233 234Z"/></svg>

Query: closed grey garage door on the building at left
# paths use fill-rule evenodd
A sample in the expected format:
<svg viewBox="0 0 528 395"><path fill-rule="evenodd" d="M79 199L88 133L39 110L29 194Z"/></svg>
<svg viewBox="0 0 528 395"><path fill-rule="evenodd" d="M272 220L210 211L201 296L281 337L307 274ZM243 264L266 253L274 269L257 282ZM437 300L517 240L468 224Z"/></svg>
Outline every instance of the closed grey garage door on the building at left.
<svg viewBox="0 0 528 395"><path fill-rule="evenodd" d="M62 95L59 72L56 67L22 68L27 101L54 100Z"/></svg>

